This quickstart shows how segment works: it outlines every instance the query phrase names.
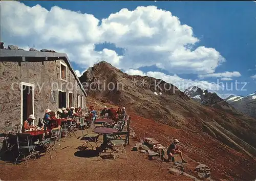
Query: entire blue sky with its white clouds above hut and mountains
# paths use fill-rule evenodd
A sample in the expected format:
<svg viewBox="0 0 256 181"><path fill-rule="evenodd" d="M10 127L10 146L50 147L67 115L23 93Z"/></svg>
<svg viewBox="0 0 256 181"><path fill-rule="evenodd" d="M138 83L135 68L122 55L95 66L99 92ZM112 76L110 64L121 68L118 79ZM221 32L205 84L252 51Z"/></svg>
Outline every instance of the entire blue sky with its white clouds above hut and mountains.
<svg viewBox="0 0 256 181"><path fill-rule="evenodd" d="M69 17L67 17L67 24L70 25L70 22L76 22L77 21L77 27L83 26L81 28L81 32L92 32L92 35L90 37L95 36L95 38L89 38L84 37L84 41L79 41L79 38L76 37L78 36L79 32L76 33L76 31L73 31L74 38L77 38L77 42L81 44L77 44L73 42L73 40L68 39L68 33L63 34L65 37L63 42L61 42L61 37L60 39L54 39L54 38L46 38L47 37L52 37L55 33L53 33L53 28L52 31L49 31L46 35L44 34L39 34L39 36L42 36L41 38L45 40L45 46L49 46L49 49L51 48L50 42L56 42L58 41L58 44L54 44L52 48L55 48L59 51L64 51L68 53L71 61L72 61L72 66L74 67L75 70L79 71L80 73L83 72L84 70L87 69L88 66L91 66L93 63L95 63L97 60L96 59L105 59L106 61L109 61L113 65L119 67L122 69L124 72L126 71L127 73L130 74L140 74L140 75L152 75L156 78L161 78L161 76L165 77L165 80L168 80L169 82L173 83L174 80L180 81L180 80L189 80L190 82L198 82L199 86L201 84L206 85L205 81L210 83L217 83L217 79L219 81L221 78L223 78L223 83L226 85L231 86L233 83L234 86L234 81L238 82L247 82L246 86L244 87L244 91L241 90L218 90L217 92L220 95L225 95L227 96L228 94L236 94L236 95L247 95L256 90L256 79L253 79L252 76L256 74L255 70L255 64L256 64L256 3L255 2L140 2L140 1L24 1L23 2L26 6L28 7L33 7L36 5L40 5L42 8L47 9L48 11L42 10L41 14L48 13L51 11L52 7L57 6L59 9L56 9L50 17L45 16L45 18L53 18L53 22L49 22L47 28L48 31L52 27L50 25L56 24L56 21L63 21L63 24L60 24L59 26L65 27L65 18L67 14L69 14ZM10 4L10 3L9 3ZM20 4L12 4L8 5L8 3L5 3L5 5L1 2L1 11L4 6L10 6L10 7L17 7L21 6ZM171 42L163 42L161 39L160 35L163 33L160 33L160 35L153 34L152 36L159 37L156 38L156 40L152 40L151 35L148 35L144 38L143 32L146 32L146 30L141 30L141 32L136 33L137 35L141 33L141 36L139 38L134 38L131 37L134 34L130 36L124 36L124 35L119 35L124 31L124 29L117 29L117 25L113 24L111 25L110 22L120 22L122 25L126 26L132 26L134 24L131 24L130 21L129 23L126 22L128 21L124 16L120 15L121 13L117 14L115 16L115 19L110 18L108 21L106 21L106 27L107 28L102 28L101 23L102 19L104 18L109 18L110 14L114 14L119 12L123 8L127 8L129 13L133 12L137 7L148 7L148 6L156 6L159 11L156 11L154 9L150 10L137 10L137 14L140 14L138 17L141 18L144 22L145 25L150 25L151 27L156 26L156 28L159 28L158 30L166 32L165 30L165 24L169 25L169 29L172 29L172 26L174 26L173 29L176 28L177 31L181 31L179 29L179 26L181 25L187 25L191 27L191 31L193 31L192 37L189 37L189 39L184 40L183 44L191 43L193 46L190 47L190 51L193 52L195 51L198 47L205 47L206 49L203 49L203 53L208 53L209 55L202 55L195 60L189 60L189 57L192 57L194 55L190 55L185 57L186 60L184 60L184 57L182 56L182 52L179 53L180 51L177 51L175 47L179 47L180 43L178 41L172 41ZM40 8L38 8L37 12L39 11ZM92 14L94 17L87 18L85 21L82 20L82 18L86 17L76 17L76 14L73 14L71 12L64 12L61 14L62 9L68 9L71 11L74 11L76 14ZM40 9L41 10L41 9ZM161 11L160 11L161 10ZM152 25L152 22L150 18L155 18L158 16L157 14L161 14L164 10L165 12L171 12L172 15L170 16L176 16L180 20L181 25L177 25L176 21L174 24L172 24L172 20L174 18L172 17L169 18L169 14L164 14L163 18L160 18L162 21L166 21L163 24L154 24ZM25 6L23 8L19 8L19 13L12 13L10 16L13 16L13 18L18 19L22 17L17 17L17 16L24 16L24 19L28 16L29 19L31 20L32 23L34 23L36 26L40 27L39 25L36 24L36 19L40 20L41 16L40 14L36 15L36 12L30 13ZM140 12L141 11L141 12ZM150 12L152 11L152 13ZM6 11L7 12L7 11ZM134 11L135 12L135 11ZM9 12L8 12L9 13ZM54 17L57 13L60 13L58 17ZM125 12L128 14L128 12ZM5 12L1 12L1 19L7 16ZM72 19L72 16L74 17ZM134 15L135 16L135 15ZM33 19L33 17L36 17ZM125 16L126 17L126 16ZM136 17L136 16L135 16ZM145 18L144 18L145 17ZM81 19L80 19L81 18ZM144 19L145 20L144 20ZM95 20L96 19L96 20ZM116 20L117 19L117 20ZM38 21L39 21L38 20ZM54 21L55 20L55 21ZM70 21L69 21L70 20ZM98 22L97 22L98 20ZM133 19L135 21L136 18ZM167 21L169 20L169 21ZM29 21L29 20L28 20ZM93 23L95 21L95 24ZM20 22L20 20L19 20ZM24 20L24 23L26 20ZM92 24L91 24L92 23ZM15 25L13 23L12 25ZM7 42L9 44L18 44L20 47L32 47L35 46L35 48L40 48L42 44L38 43L35 40L29 40L28 44L22 43L22 40L27 39L28 40L28 34L26 33L20 33L20 31L13 32L13 36L10 35L10 32L5 31L7 28L11 28L11 22L6 21L3 23L4 30L3 32L1 31L1 41ZM74 25L76 26L76 25ZM91 31L89 30L90 27L95 26L95 27L100 27L101 32L104 30L104 38L102 39L97 39L97 36L93 34L93 32L96 32L96 29ZM158 27L157 27L158 26ZM35 26L34 26L35 27ZM62 27L62 29L64 29ZM111 27L111 28L110 28ZM14 28L14 27L13 27ZM183 27L184 28L184 27ZM105 29L108 29L106 31ZM135 28L133 31L135 31L138 28ZM166 28L167 29L167 28ZM34 34L37 34L39 32L38 29L28 29L27 31L30 31L30 33L33 36ZM184 30L187 31L187 30ZM63 31L64 32L64 31ZM60 33L63 33L60 32ZM52 33L53 35L49 34ZM113 36L112 36L112 34ZM89 34L89 33L87 33ZM169 33L167 33L164 36L168 36ZM15 35L20 35L19 37L22 38L13 38ZM67 36L66 36L67 35ZM70 35L70 34L69 34ZM102 35L102 34L101 34ZM180 34L179 34L180 35ZM37 35L38 36L38 35ZM70 35L71 36L71 35ZM116 36L120 36L119 40L115 39ZM169 35L167 38L176 38L178 35ZM181 36L181 35L180 35ZM186 38L188 35L184 35L183 37ZM36 36L35 36L36 37ZM131 39L129 39L131 37ZM141 38L142 37L142 38ZM196 37L198 40L193 39L193 37ZM13 38L13 39L12 39ZM140 39L141 38L141 39ZM148 39L146 39L148 38ZM40 38L39 38L40 39ZM115 39L115 40L114 40ZM164 39L164 38L163 38ZM112 41L113 40L113 41ZM157 41L159 40L159 41ZM72 41L72 42L71 42ZM109 43L103 43L104 41L106 42L111 42ZM137 42L138 41L138 42ZM43 41L42 41L43 42ZM70 44L69 44L70 42ZM49 43L49 44L48 44ZM67 49L65 44L68 46L72 46L69 49ZM74 43L74 44L71 44ZM132 46L136 46L138 44L146 45L144 48L143 47L138 47L136 49L132 49ZM162 43L162 44L161 44ZM168 44L169 43L169 44ZM172 44L173 43L173 44ZM176 46L176 44L177 46ZM89 57L84 53L82 56L77 56L76 54L79 53L77 49L75 49L76 44L78 45L78 48L81 48L81 52L88 52L88 54L91 54L90 56L94 56L94 58ZM152 46L151 46L152 45ZM175 54L178 52L178 56L169 56L166 52L161 52L157 51L155 54L148 53L147 50L151 49L154 46L160 46L160 47L173 47L172 50L167 51L170 54ZM94 47L95 46L95 47ZM118 48L117 48L118 47ZM182 46L184 47L184 46ZM47 48L47 47L44 47ZM208 48L213 48L216 51L213 51L212 53L210 52L211 50ZM103 49L106 50L111 50L111 51L103 51ZM153 48L154 49L154 48ZM177 48L178 49L178 48ZM155 49L154 49L155 50ZM93 53L91 51L94 51ZM98 53L102 51L103 53ZM139 52L140 51L140 52ZM96 52L96 53L95 53ZM220 55L219 55L220 54ZM198 55L198 53L196 53ZM157 58L162 60L158 60ZM145 61L142 61L142 59L151 59L148 60L148 64L145 63ZM155 59L154 59L155 58ZM221 61L222 58L225 59L225 61ZM78 60L79 59L79 60ZM88 60L87 60L88 59ZM90 60L89 60L90 59ZM95 59L93 61L93 59ZM205 60L204 60L205 59ZM212 66L207 67L209 65L210 59L214 59L212 62L216 61L216 63L212 63ZM115 61L114 61L115 60ZM141 62L140 62L141 60ZM176 61L184 60L183 65L176 63ZM82 62L83 61L83 62ZM131 63L129 63L131 61ZM205 69L204 66L198 66L195 64L195 66L189 66L189 65L184 65L184 64L189 64L191 61L197 61L200 63L200 61L203 61L205 63ZM90 63L88 63L90 62ZM156 62L156 63L154 63ZM159 65L161 64L161 65ZM211 63L210 63L211 64ZM148 65L148 66L147 66ZM194 69L195 68L195 69ZM147 72L151 72L148 73ZM153 72L153 73L152 73ZM155 73L154 73L155 72ZM227 72L226 74L223 74ZM234 73L235 72L235 73ZM161 74L162 73L162 74ZM238 74L239 73L239 74ZM201 76L201 78L199 78ZM228 79L232 79L229 81L225 81ZM238 88L241 89L243 85L239 85ZM203 87L204 88L204 87Z"/></svg>

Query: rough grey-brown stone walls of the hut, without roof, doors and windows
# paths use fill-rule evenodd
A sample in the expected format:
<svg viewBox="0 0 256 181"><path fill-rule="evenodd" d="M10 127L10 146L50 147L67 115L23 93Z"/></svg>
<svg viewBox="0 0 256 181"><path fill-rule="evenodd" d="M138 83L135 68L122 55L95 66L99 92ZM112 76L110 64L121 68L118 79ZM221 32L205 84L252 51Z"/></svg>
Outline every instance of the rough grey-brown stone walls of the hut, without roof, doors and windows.
<svg viewBox="0 0 256 181"><path fill-rule="evenodd" d="M67 107L69 91L73 92L74 107L77 107L78 94L83 95L84 105L82 107L86 107L86 96L78 86L75 76L68 66L67 81L60 80L60 61L65 63L63 60L0 62L0 131L6 126L14 126L21 123L21 82L34 84L35 123L38 118L44 117L45 109L50 108L53 111L57 111L58 91L56 89L66 92ZM74 85L73 88L69 82ZM55 86L52 87L52 84ZM52 94L54 89L55 96L54 93ZM51 98L51 95L54 96L54 99Z"/></svg>

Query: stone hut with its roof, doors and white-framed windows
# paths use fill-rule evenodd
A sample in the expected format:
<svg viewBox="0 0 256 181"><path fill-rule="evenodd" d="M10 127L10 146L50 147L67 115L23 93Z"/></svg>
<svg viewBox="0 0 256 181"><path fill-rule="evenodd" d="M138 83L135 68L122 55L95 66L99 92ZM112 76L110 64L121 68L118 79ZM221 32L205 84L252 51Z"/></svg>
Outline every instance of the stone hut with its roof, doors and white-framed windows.
<svg viewBox="0 0 256 181"><path fill-rule="evenodd" d="M65 53L1 49L0 84L0 131L30 114L37 124L47 108L86 107L87 93Z"/></svg>

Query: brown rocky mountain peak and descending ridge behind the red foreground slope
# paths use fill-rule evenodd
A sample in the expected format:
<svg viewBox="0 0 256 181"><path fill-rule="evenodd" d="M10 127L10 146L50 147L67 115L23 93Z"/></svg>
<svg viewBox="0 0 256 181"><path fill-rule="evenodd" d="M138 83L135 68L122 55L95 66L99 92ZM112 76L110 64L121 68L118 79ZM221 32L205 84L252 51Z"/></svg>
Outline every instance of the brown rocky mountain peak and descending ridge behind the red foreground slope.
<svg viewBox="0 0 256 181"><path fill-rule="evenodd" d="M172 84L127 75L104 61L90 67L80 80L91 83L88 94L102 102L125 106L141 117L185 132L206 132L234 149L256 155L256 120L225 101L211 100L217 106L200 105Z"/></svg>

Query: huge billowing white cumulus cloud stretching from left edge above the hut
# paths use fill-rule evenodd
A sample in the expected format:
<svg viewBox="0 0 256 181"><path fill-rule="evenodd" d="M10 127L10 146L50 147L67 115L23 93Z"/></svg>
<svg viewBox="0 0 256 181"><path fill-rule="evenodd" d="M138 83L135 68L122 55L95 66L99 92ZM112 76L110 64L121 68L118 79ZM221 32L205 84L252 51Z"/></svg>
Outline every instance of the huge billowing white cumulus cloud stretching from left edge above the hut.
<svg viewBox="0 0 256 181"><path fill-rule="evenodd" d="M13 11L15 9L15 11ZM1 1L1 41L18 47L65 52L81 68L105 60L127 70L156 65L170 73L212 74L225 59L214 48L195 47L193 29L156 6L121 9L105 19L17 1ZM124 50L96 51L110 42Z"/></svg>

